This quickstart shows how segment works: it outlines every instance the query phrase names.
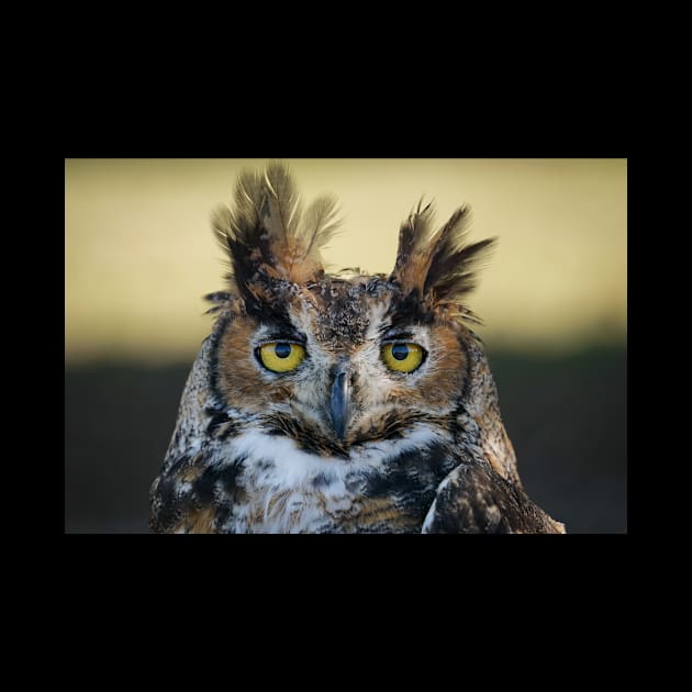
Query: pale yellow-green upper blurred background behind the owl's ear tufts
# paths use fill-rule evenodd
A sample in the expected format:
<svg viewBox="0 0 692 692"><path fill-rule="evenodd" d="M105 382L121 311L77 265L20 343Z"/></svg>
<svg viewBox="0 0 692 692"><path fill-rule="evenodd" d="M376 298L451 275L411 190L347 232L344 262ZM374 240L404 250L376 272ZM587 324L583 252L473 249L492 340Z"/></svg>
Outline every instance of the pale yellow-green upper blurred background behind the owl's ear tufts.
<svg viewBox="0 0 692 692"><path fill-rule="evenodd" d="M389 271L424 194L442 223L466 202L471 237L499 236L471 308L490 345L555 349L626 330L626 159L284 159L309 200L341 200L334 268ZM209 332L201 295L223 287L212 209L266 159L66 159L69 362L171 361Z"/></svg>

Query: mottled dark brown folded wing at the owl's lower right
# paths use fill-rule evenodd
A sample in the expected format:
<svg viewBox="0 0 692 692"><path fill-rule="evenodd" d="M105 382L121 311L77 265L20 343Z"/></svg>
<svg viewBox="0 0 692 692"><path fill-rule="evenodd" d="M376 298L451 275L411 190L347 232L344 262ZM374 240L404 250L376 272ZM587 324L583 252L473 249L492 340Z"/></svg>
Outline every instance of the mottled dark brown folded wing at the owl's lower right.
<svg viewBox="0 0 692 692"><path fill-rule="evenodd" d="M424 534L563 534L526 492L492 468L461 464L437 488Z"/></svg>

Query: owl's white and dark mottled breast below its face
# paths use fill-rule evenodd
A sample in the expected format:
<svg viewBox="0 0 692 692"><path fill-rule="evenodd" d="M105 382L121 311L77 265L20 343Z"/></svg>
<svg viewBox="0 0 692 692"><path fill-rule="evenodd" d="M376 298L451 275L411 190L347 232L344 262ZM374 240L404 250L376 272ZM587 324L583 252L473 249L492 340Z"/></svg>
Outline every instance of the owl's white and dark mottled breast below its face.
<svg viewBox="0 0 692 692"><path fill-rule="evenodd" d="M260 433L233 446L234 485L216 495L221 533L417 533L455 464L448 444L424 433L349 459Z"/></svg>

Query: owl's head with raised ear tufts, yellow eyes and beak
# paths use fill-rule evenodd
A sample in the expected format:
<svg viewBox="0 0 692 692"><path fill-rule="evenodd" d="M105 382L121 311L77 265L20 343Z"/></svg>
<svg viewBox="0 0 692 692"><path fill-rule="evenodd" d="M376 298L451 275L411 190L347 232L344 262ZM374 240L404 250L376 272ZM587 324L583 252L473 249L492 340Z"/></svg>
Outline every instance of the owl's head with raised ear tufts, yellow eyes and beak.
<svg viewBox="0 0 692 692"><path fill-rule="evenodd" d="M465 300L493 241L467 242L467 208L435 228L418 204L391 274L327 274L336 215L326 197L303 210L282 165L239 177L214 217L231 265L227 290L208 297L214 398L232 422L330 457L421 425L448 431L478 348Z"/></svg>

